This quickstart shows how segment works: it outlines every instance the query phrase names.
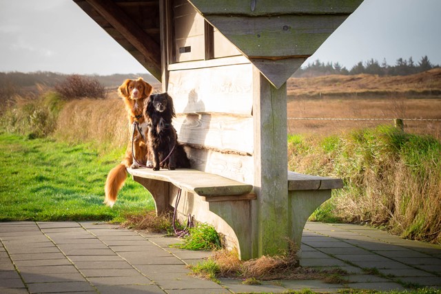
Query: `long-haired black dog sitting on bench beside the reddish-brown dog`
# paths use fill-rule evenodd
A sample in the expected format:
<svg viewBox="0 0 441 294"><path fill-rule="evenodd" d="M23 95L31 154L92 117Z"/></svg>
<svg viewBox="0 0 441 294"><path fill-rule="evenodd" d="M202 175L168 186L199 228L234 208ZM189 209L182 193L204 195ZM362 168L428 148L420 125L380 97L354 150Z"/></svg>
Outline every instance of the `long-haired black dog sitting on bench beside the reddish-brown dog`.
<svg viewBox="0 0 441 294"><path fill-rule="evenodd" d="M153 170L189 167L187 154L178 144L178 135L172 125L176 117L172 97L167 93L150 95L143 113L149 125L147 145L152 154Z"/></svg>

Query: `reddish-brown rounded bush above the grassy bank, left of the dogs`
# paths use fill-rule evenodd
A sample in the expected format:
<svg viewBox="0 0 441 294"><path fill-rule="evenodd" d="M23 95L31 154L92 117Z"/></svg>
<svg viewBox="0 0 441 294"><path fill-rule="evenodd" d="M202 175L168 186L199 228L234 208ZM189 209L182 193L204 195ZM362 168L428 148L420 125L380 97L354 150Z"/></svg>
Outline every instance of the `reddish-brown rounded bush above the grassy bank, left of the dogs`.
<svg viewBox="0 0 441 294"><path fill-rule="evenodd" d="M73 74L55 86L55 90L66 99L72 98L105 98L105 87L94 78Z"/></svg>

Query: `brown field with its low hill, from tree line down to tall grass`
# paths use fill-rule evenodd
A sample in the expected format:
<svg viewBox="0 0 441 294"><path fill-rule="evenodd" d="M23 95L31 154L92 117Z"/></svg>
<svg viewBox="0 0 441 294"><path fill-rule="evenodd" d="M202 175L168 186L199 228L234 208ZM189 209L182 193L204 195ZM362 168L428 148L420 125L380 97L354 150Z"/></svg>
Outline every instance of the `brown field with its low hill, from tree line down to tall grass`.
<svg viewBox="0 0 441 294"><path fill-rule="evenodd" d="M441 69L412 76L290 78L287 94L289 134L338 134L402 118L406 132L441 138Z"/></svg>

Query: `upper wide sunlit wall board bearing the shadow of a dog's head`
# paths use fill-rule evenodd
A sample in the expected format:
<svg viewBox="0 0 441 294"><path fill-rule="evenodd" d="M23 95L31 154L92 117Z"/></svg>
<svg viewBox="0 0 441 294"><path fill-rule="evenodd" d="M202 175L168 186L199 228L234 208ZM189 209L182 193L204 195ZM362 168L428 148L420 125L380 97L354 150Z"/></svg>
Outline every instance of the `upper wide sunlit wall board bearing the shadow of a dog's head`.
<svg viewBox="0 0 441 294"><path fill-rule="evenodd" d="M251 63L170 72L176 113L252 113Z"/></svg>

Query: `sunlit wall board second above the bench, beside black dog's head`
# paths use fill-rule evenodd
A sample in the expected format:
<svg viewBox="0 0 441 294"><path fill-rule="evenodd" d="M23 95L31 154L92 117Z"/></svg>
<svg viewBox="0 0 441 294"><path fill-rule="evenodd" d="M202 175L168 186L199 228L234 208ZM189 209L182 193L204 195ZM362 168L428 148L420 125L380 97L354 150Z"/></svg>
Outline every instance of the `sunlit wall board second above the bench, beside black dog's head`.
<svg viewBox="0 0 441 294"><path fill-rule="evenodd" d="M253 118L210 114L178 116L173 122L179 142L220 151L253 153Z"/></svg>

